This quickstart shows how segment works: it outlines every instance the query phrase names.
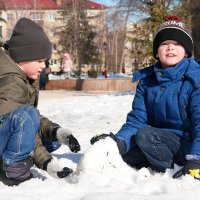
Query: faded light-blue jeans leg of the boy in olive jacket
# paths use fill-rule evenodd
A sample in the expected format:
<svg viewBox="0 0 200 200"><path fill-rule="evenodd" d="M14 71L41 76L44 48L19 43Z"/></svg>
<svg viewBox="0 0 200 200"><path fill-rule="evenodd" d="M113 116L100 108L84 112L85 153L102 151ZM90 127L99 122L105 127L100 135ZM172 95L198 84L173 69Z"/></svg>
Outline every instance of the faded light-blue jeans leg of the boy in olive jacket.
<svg viewBox="0 0 200 200"><path fill-rule="evenodd" d="M39 112L32 106L21 106L0 116L0 157L3 162L11 164L26 159L34 149L39 127Z"/></svg>

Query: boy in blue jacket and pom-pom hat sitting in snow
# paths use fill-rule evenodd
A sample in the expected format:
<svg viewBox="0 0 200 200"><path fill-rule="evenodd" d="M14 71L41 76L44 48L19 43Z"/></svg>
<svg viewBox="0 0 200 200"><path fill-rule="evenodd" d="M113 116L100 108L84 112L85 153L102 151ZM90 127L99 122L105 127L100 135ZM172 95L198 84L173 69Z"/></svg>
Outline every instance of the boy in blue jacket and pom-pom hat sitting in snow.
<svg viewBox="0 0 200 200"><path fill-rule="evenodd" d="M135 72L139 81L126 123L107 136L122 158L136 168L158 172L183 166L174 178L190 174L200 179L200 66L191 58L193 40L179 17L168 16L155 35L154 66Z"/></svg>

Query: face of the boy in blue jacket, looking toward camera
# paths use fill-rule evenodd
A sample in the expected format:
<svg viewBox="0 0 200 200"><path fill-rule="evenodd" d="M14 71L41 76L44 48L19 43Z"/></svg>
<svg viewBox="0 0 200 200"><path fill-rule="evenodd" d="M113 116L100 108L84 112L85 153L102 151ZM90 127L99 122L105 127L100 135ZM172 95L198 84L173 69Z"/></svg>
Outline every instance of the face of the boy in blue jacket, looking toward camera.
<svg viewBox="0 0 200 200"><path fill-rule="evenodd" d="M185 48L175 40L166 40L158 47L156 55L163 68L172 67L180 62L185 56Z"/></svg>

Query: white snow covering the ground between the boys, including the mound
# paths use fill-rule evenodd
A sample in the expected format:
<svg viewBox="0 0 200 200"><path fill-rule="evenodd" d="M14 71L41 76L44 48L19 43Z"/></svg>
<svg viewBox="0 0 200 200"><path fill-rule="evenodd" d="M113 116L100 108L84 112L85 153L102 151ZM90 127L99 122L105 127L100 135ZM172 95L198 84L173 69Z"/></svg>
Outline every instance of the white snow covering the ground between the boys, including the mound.
<svg viewBox="0 0 200 200"><path fill-rule="evenodd" d="M56 179L36 167L34 179L8 187L0 182L1 200L197 200L200 182L189 175L173 179L180 169L157 173L149 168L136 170L123 162L115 142L107 138L94 145L97 133L116 133L131 109L133 92L84 93L41 91L42 115L70 128L81 144L81 151L71 153L62 146L53 153L58 165L73 169L72 175Z"/></svg>

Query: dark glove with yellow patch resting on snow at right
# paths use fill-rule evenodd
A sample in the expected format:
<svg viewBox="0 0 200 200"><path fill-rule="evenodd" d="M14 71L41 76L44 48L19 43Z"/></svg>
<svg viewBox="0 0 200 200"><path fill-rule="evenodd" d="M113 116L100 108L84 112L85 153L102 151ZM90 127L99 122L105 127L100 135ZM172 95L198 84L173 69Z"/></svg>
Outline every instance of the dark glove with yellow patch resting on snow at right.
<svg viewBox="0 0 200 200"><path fill-rule="evenodd" d="M173 178L179 178L185 174L190 174L195 179L200 180L200 161L199 160L188 160L183 168L177 171Z"/></svg>

